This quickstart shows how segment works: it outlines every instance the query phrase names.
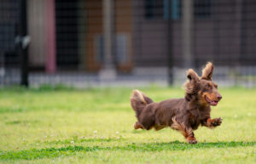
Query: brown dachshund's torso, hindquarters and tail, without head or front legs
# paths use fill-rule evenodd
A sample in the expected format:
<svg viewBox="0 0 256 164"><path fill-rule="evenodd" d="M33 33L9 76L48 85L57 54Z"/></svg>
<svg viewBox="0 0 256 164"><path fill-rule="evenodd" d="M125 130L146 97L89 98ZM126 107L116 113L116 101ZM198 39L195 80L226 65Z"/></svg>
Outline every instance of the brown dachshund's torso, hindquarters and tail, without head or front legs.
<svg viewBox="0 0 256 164"><path fill-rule="evenodd" d="M137 121L135 128L156 130L172 125L172 117L180 112L184 99L166 99L154 103L139 90L134 90L131 95L131 107L136 112Z"/></svg>

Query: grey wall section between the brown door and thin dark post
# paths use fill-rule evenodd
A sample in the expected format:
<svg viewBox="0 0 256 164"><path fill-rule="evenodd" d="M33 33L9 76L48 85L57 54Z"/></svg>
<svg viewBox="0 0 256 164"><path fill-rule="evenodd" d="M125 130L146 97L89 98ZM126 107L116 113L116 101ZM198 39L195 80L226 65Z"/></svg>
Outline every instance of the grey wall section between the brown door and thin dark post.
<svg viewBox="0 0 256 164"><path fill-rule="evenodd" d="M134 65L166 65L167 21L163 18L145 18L145 1L133 3Z"/></svg>

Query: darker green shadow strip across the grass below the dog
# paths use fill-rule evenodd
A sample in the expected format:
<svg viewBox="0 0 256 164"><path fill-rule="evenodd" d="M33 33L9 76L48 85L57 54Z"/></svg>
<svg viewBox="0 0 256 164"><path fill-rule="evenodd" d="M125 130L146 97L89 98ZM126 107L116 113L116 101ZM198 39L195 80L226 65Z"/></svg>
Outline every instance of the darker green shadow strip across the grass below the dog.
<svg viewBox="0 0 256 164"><path fill-rule="evenodd" d="M78 152L90 152L98 150L128 150L128 151L161 151L161 150L191 150L191 149L211 149L211 148L232 148L253 146L256 142L218 142L186 144L179 141L170 143L148 143L148 144L128 144L126 146L100 147L100 146L67 146L61 148L46 148L42 150L21 150L21 151L0 151L0 160L32 160L40 158L53 158L58 156L73 156Z"/></svg>

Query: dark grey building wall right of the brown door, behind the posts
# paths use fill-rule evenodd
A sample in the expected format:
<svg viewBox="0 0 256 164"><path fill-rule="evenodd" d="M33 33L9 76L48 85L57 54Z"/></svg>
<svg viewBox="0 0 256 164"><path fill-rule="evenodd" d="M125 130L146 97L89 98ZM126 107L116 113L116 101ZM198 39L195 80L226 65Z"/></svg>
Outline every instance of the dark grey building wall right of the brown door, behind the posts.
<svg viewBox="0 0 256 164"><path fill-rule="evenodd" d="M174 0L172 0L173 2ZM178 1L178 0L175 0ZM253 0L195 1L192 54L195 66L214 61L217 65L256 64L256 3ZM147 19L147 0L133 0L134 62L137 66L166 66L169 48L175 66L183 66L181 15L172 18L172 45L168 45L168 19ZM204 11L205 8L205 11ZM160 12L164 8L158 9ZM170 15L169 15L170 16ZM228 62L227 62L228 61Z"/></svg>

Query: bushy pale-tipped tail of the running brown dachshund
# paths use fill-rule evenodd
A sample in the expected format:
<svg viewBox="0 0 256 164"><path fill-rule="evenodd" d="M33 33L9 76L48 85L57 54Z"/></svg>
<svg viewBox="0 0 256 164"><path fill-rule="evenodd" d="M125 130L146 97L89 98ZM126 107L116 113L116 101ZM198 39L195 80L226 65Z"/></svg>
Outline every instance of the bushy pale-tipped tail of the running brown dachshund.
<svg viewBox="0 0 256 164"><path fill-rule="evenodd" d="M139 90L133 90L130 101L131 107L135 110L137 118L140 116L146 105L153 103L152 99L148 98Z"/></svg>

